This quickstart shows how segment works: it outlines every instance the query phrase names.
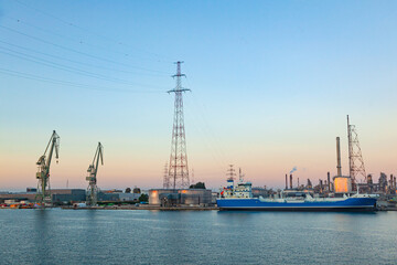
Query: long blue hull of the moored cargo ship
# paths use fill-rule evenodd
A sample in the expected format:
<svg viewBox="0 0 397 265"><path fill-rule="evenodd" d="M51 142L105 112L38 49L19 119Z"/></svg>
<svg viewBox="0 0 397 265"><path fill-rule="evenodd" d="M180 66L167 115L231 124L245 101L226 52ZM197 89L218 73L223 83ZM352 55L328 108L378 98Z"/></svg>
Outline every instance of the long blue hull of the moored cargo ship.
<svg viewBox="0 0 397 265"><path fill-rule="evenodd" d="M217 199L219 210L253 211L375 211L374 198L347 198L342 201L264 202L258 198Z"/></svg>

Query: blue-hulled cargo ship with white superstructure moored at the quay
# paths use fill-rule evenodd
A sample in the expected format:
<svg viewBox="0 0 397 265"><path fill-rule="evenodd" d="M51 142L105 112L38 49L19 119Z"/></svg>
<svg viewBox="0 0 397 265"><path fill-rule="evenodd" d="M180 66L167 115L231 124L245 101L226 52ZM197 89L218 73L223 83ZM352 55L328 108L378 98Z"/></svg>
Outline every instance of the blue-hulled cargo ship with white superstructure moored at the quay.
<svg viewBox="0 0 397 265"><path fill-rule="evenodd" d="M343 194L341 198L315 198L309 192L301 197L254 198L251 183L243 179L235 186L227 180L216 200L219 210L251 211L375 211L376 197L372 194Z"/></svg>

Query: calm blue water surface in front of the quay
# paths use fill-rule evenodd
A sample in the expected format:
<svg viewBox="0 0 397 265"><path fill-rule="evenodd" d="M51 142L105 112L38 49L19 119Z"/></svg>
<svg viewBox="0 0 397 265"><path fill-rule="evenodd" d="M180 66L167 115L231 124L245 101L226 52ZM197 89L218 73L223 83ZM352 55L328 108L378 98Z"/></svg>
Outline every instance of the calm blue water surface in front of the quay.
<svg viewBox="0 0 397 265"><path fill-rule="evenodd" d="M0 210L0 264L397 264L397 212Z"/></svg>

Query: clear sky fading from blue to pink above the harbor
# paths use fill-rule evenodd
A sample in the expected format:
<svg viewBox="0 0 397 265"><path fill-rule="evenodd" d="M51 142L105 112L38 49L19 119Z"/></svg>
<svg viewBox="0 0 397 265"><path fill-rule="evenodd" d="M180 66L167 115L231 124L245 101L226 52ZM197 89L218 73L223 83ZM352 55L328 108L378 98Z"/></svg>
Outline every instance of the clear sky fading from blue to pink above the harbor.
<svg viewBox="0 0 397 265"><path fill-rule="evenodd" d="M51 187L161 188L175 61L190 178L255 187L336 174L346 115L367 173L397 173L396 1L0 1L0 190L36 187L52 130ZM194 172L194 173L193 173Z"/></svg>

